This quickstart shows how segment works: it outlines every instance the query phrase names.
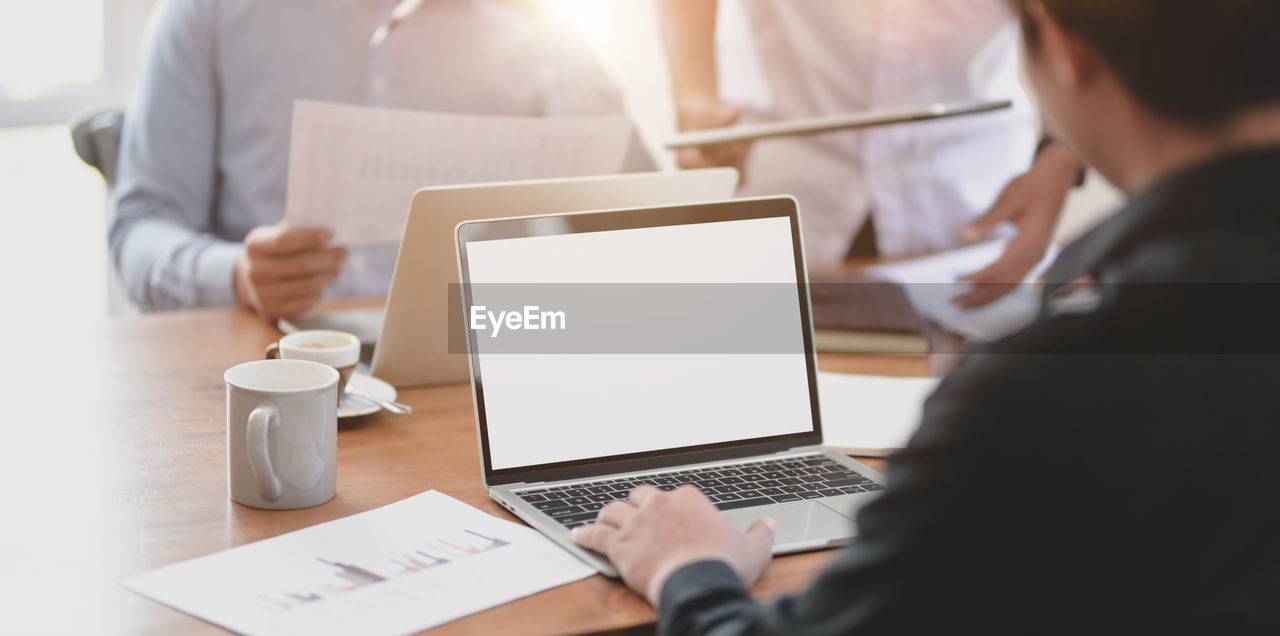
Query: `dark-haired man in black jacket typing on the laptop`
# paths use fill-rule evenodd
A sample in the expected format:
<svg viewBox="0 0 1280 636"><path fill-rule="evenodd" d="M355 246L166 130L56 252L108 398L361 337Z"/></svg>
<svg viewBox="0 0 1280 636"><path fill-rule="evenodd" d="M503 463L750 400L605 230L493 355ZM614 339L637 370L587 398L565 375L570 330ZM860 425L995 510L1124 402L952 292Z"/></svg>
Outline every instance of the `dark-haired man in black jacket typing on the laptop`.
<svg viewBox="0 0 1280 636"><path fill-rule="evenodd" d="M1048 124L1130 203L928 401L859 539L746 591L772 527L641 488L576 540L669 633L1280 633L1280 3L1021 0ZM1096 307L1053 292L1096 282Z"/></svg>

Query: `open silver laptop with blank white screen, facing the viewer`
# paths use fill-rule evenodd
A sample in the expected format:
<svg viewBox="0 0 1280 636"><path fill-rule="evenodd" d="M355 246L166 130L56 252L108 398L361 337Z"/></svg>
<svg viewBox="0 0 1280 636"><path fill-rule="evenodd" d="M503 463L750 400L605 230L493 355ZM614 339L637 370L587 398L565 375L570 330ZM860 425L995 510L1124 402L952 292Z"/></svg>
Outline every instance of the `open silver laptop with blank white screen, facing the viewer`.
<svg viewBox="0 0 1280 636"><path fill-rule="evenodd" d="M884 479L822 445L800 237L790 197L460 224L489 495L608 576L570 530L640 484L849 543Z"/></svg>

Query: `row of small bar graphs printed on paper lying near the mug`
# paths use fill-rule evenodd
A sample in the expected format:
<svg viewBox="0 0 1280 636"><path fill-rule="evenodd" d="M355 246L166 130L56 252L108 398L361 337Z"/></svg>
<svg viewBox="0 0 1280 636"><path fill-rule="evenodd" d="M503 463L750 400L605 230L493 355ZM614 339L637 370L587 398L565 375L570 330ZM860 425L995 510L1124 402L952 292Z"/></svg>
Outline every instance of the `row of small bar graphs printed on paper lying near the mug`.
<svg viewBox="0 0 1280 636"><path fill-rule="evenodd" d="M250 603L268 612L287 612L361 587L387 582L394 577L412 576L425 569L448 566L504 545L511 545L511 543L483 535L475 530L463 530L461 536L435 539L394 557L388 557L385 563L370 564L369 567L316 557L316 562L332 569L332 576L326 581L306 589L282 590L274 595L260 594Z"/></svg>

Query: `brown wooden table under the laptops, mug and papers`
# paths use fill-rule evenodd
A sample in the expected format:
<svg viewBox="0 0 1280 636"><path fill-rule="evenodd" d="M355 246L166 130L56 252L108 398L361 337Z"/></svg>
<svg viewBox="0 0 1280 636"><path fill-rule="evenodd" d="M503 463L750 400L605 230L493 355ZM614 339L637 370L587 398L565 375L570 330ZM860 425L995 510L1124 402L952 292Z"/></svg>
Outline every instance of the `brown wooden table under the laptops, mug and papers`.
<svg viewBox="0 0 1280 636"><path fill-rule="evenodd" d="M52 351L38 338L18 346L33 360L15 369L26 381L6 399L0 445L6 627L0 631L218 632L118 581L429 489L513 520L481 486L467 385L402 390L399 401L413 407L412 415L342 424L337 498L316 508L266 512L227 498L223 371L260 358L279 338L274 328L244 311L210 310L52 331ZM819 365L904 376L931 370L924 356L822 357ZM882 462L868 463L883 470ZM771 598L801 589L833 555L778 558L753 592ZM653 622L644 600L595 576L448 623L438 633L646 631Z"/></svg>

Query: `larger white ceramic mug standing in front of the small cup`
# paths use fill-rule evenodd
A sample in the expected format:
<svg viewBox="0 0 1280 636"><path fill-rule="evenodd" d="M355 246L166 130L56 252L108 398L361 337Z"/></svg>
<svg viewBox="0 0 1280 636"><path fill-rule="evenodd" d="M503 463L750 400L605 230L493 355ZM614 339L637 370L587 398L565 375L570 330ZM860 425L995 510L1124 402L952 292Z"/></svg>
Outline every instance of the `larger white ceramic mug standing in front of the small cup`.
<svg viewBox="0 0 1280 636"><path fill-rule="evenodd" d="M306 360L257 360L228 369L223 379L232 500L288 511L333 499L338 371Z"/></svg>

